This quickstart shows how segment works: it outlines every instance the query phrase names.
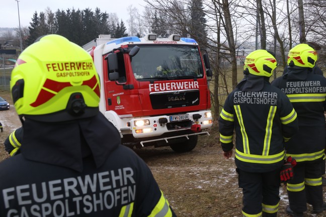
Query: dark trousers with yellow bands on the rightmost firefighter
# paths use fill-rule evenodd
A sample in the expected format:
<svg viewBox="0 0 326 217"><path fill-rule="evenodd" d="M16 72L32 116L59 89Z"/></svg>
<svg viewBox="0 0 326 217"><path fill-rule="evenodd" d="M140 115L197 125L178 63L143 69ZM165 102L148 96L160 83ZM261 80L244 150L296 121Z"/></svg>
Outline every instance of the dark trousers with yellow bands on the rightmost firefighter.
<svg viewBox="0 0 326 217"><path fill-rule="evenodd" d="M290 208L294 212L307 210L307 203L313 208L322 207L323 196L320 167L322 160L298 163L294 168L294 177L289 180L286 189Z"/></svg>

